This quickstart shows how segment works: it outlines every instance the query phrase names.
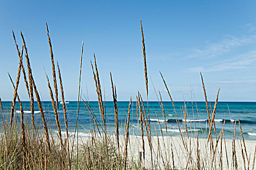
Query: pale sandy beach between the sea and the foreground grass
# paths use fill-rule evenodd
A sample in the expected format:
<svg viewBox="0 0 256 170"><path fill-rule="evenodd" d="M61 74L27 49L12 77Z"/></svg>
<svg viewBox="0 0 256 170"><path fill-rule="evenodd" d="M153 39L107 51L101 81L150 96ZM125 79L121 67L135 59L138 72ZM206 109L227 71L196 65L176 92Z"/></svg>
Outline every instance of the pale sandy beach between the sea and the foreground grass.
<svg viewBox="0 0 256 170"><path fill-rule="evenodd" d="M115 140L115 136L111 136L112 140ZM86 143L90 137L80 137L80 144ZM81 142L82 140L82 142ZM124 154L124 145L125 139L123 136L119 137L120 140L120 151ZM199 138L198 139L198 150L199 150L199 163L200 167L205 167L207 170L219 170L221 167L220 163L220 139L216 148L216 139L213 141L213 151L216 149L214 162L212 165L213 153L210 152L210 143L207 145L207 139ZM242 142L242 141L241 141ZM172 159L172 150L174 157L174 166L175 169L197 169L197 138L193 137L184 137L183 141L181 137L168 137L168 136L153 136L152 137L152 154L153 154L153 164L151 163L151 152L147 136L144 136L144 145L145 145L145 161L143 160L143 150L142 150L142 139L141 136L129 136L128 142L128 162L134 162L137 166L139 165L139 160L141 159L141 164L147 169L164 169L168 164L169 167L173 168L173 159ZM226 143L226 147L225 147ZM237 159L237 168L238 170L244 169L243 157L241 152L241 143L240 140L235 140L235 149L236 149L236 159ZM248 155L248 160L250 161L249 169L252 170L254 152L256 147L256 141L246 140L246 151ZM243 143L242 143L243 147ZM226 152L227 150L227 152ZM244 147L243 147L244 150ZM141 153L141 157L139 156ZM245 165L246 169L248 168L248 161L246 155ZM224 139L222 140L222 169L228 170L233 169L233 140ZM256 163L254 168L256 168Z"/></svg>

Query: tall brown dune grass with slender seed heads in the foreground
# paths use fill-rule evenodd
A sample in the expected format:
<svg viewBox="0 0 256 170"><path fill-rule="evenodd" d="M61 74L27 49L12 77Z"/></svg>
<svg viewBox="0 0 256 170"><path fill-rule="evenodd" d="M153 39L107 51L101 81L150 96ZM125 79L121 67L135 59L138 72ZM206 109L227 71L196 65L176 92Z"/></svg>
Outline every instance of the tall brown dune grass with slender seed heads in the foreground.
<svg viewBox="0 0 256 170"><path fill-rule="evenodd" d="M118 101L116 86L113 83L112 74L110 72L110 80L113 92L113 108L115 115L115 132L109 132L107 129L107 113L105 111L105 98L102 95L99 72L97 68L96 57L94 55L94 62L91 62L93 77L95 81L96 93L98 96L98 107L100 112L100 119L98 119L93 110L91 109L89 101L81 97L80 81L81 81L81 67L83 57L83 43L80 56L80 70L79 70L79 95L78 95L78 108L77 108L77 122L75 134L72 135L68 126L68 111L65 104L64 91L61 79L61 73L59 64L57 62L58 76L56 76L55 61L53 55L53 47L51 44L48 25L46 23L46 30L50 48L50 59L52 63L52 75L54 88L51 87L50 81L47 78L47 85L49 88L49 95L51 97L52 107L54 110L56 125L58 127L58 137L53 136L53 129L49 124L45 111L43 111L42 102L37 90L36 83L33 78L32 69L29 62L28 49L26 47L23 34L20 32L23 44L21 52L16 42L15 34L13 32L13 38L17 48L19 56L19 69L17 73L16 83L14 84L11 76L10 80L14 87L14 96L10 109L10 118L4 118L2 103L0 100L0 112L2 121L2 132L0 138L0 169L3 170L127 170L127 169L189 169L189 170L219 170L219 169L245 169L253 170L256 159L256 144L248 150L247 141L244 140L242 127L238 119L240 133L242 140L236 139L236 125L234 124L234 138L232 140L226 140L224 136L224 125L219 133L215 127L215 115L218 103L218 94L212 109L211 102L208 102L205 85L203 82L203 76L201 74L202 88L204 90L206 110L209 122L208 131L205 131L205 138L199 138L198 133L189 133L193 131L191 121L187 121L190 118L190 113L187 110L186 102L180 108L182 112L185 127L181 125L179 119L177 121L177 127L179 129L179 136L172 136L167 130L165 109L162 102L161 94L156 92L158 97L159 107L162 110L164 117L165 128L162 129L158 119L159 134L155 130L155 125L150 123L149 103L148 103L148 75L146 64L146 52L145 52L145 40L141 26L141 38L142 38L142 54L144 62L145 73L145 90L147 94L147 103L143 102L143 99L138 92L136 101L132 101L130 98L129 105L127 105L127 118L125 128L118 124ZM23 52L25 51L25 52ZM23 55L26 58L26 67L24 67L22 59ZM27 68L27 70L25 70ZM27 73L26 73L27 71ZM30 99L31 110L31 122L24 120L24 112L22 108L22 102L20 101L18 94L18 86L20 83L20 74L23 74L24 83ZM28 75L28 81L27 76ZM170 98L170 102L173 104L174 111L177 116L177 109L171 97L171 93L167 86L166 81L162 73L160 72L163 84L166 87L167 93ZM61 100L63 102L62 109L63 115L59 114L59 94L58 94L58 78L60 84ZM154 86L154 85L153 85ZM155 87L154 87L155 89ZM156 90L155 90L156 91ZM34 94L38 102L42 128L35 121L34 116ZM192 94L191 94L192 95ZM18 99L20 104L20 120L17 119L15 114L15 103ZM160 100L159 100L160 99ZM82 102L81 102L82 101ZM136 102L137 107L137 130L140 131L141 136L130 136L130 112L131 103ZM89 129L90 137L79 137L79 104L85 104L88 108L91 124L93 128ZM193 102L192 102L193 104ZM195 104L197 104L195 102ZM209 108L210 105L210 108ZM196 111L195 111L196 112ZM198 113L198 110L197 110ZM199 113L198 113L199 116ZM65 120L65 132L61 132L59 118L64 117ZM158 115L156 114L158 118ZM194 110L193 110L194 118ZM200 116L199 116L200 118ZM184 129L183 129L184 128ZM165 133L162 131L165 130ZM120 133L123 132L123 133ZM202 125L201 125L201 132ZM113 135L115 133L115 135ZM226 143L230 145L226 145ZM230 152L231 151L231 152Z"/></svg>

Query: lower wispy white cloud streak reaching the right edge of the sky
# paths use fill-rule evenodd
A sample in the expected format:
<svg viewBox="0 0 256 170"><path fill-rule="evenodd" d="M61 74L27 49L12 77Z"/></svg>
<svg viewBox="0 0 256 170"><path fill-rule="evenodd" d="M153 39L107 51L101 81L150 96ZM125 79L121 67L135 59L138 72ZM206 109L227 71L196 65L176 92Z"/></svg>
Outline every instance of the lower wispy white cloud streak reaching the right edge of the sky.
<svg viewBox="0 0 256 170"><path fill-rule="evenodd" d="M242 54L231 59L214 62L204 66L189 68L190 71L224 71L229 69L244 69L256 64L256 51L250 51L247 54Z"/></svg>

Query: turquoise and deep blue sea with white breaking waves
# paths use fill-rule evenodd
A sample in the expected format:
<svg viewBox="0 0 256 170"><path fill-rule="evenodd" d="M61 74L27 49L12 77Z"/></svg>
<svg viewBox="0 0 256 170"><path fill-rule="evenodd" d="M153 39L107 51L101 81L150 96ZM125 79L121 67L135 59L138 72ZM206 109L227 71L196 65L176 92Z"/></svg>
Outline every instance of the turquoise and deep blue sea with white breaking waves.
<svg viewBox="0 0 256 170"><path fill-rule="evenodd" d="M5 119L9 119L10 117L10 108L11 102L2 102L3 104L3 112ZM94 114L96 115L98 121L100 122L100 114L98 109L98 102L89 102ZM187 126L190 136L196 136L197 132L200 137L208 135L208 116L206 110L205 102L185 102L186 108L188 111L187 115ZM26 121L31 121L30 115L30 107L29 102L22 102L23 109L25 111L25 119ZM43 102L45 115L47 116L48 125L51 124L54 130L57 129L55 124L55 116L52 108L51 102ZM147 103L144 102L145 110L147 112ZM120 134L125 132L124 124L127 119L129 102L118 102L118 120L119 120L119 131ZM174 111L173 105L171 102L163 102L165 117L167 121L167 131L171 133L172 136L179 136L180 131L177 126L177 121L179 121L180 126L182 127L181 133L185 132L185 122L182 112L182 107L184 108L184 102L175 102L176 113ZM129 134L130 135L140 135L140 122L138 122L139 118L137 117L137 106L136 102L132 103L131 106L131 116L130 116L130 127ZM214 107L214 102L212 103L212 107ZM67 104L67 109L69 113L68 124L69 131L74 132L76 121L77 121L77 108L78 102L69 102ZM210 108L210 105L209 105ZM228 109L229 108L229 109ZM16 104L17 116L19 117L19 104ZM105 102L106 109L106 117L107 117L107 130L113 132L115 130L115 117L114 117L114 105L113 102ZM41 117L37 103L35 102L35 120L37 121L37 125L41 126ZM160 128L163 131L163 134L166 135L166 128L164 123L164 117L159 105L159 102L149 102L149 113L150 113L150 124L152 128L153 135L156 136L160 132ZM211 113L211 110L210 110ZM158 119L156 117L158 115ZM139 115L139 114L138 114ZM148 113L147 113L148 115ZM199 116L198 116L199 115ZM62 110L62 104L59 104L59 117L61 127L64 130L64 116ZM20 117L19 117L20 118ZM215 124L217 130L217 136L220 132L224 120L224 135L225 138L233 138L234 134L234 124L236 120L240 120L242 131L244 138L246 140L256 140L256 102L218 102L217 104L217 112L215 117ZM87 107L83 102L80 102L79 108L79 134L82 136L89 135L88 132L90 129L93 129L92 121L90 121L91 116L88 112ZM20 120L20 119L19 119ZM159 125L160 123L160 125ZM139 125L139 126L138 126ZM1 122L2 126L2 122ZM160 127L161 126L161 127ZM97 131L97 129L96 129ZM144 129L145 131L145 129ZM206 131L206 132L205 132ZM144 135L146 133L144 132ZM237 138L240 137L240 128L238 122L236 122L236 135Z"/></svg>

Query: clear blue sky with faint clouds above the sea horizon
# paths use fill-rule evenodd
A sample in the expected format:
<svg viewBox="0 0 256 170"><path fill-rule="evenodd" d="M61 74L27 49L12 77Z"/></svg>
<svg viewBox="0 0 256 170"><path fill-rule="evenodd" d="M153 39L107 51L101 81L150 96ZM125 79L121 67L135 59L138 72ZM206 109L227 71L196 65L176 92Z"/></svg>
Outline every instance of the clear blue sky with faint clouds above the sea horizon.
<svg viewBox="0 0 256 170"><path fill-rule="evenodd" d="M256 101L256 1L247 0L1 0L0 98L12 101L8 72L16 79L24 35L41 99L50 100L45 72L53 86L46 34L48 23L55 63L59 62L66 101L76 101L81 44L84 42L82 98L97 101L90 61L95 53L102 93L112 101L109 72L118 101L146 100L140 33L142 20L149 77L149 101ZM25 63L25 60L23 60ZM26 66L25 66L26 67ZM154 85L154 87L153 87ZM18 94L28 101L21 74ZM192 96L192 97L191 97ZM60 96L59 96L60 98Z"/></svg>

